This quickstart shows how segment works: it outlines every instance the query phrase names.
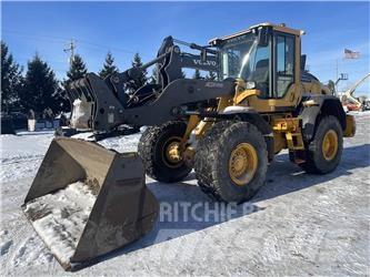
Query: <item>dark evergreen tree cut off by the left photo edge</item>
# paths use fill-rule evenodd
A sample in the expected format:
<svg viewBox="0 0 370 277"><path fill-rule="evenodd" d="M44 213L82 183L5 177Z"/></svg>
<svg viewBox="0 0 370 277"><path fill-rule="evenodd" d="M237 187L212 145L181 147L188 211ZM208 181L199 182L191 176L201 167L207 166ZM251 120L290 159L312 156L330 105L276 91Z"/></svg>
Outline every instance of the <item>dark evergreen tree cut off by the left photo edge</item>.
<svg viewBox="0 0 370 277"><path fill-rule="evenodd" d="M22 69L13 60L8 45L1 41L1 110L10 112L19 107L19 94L23 85Z"/></svg>

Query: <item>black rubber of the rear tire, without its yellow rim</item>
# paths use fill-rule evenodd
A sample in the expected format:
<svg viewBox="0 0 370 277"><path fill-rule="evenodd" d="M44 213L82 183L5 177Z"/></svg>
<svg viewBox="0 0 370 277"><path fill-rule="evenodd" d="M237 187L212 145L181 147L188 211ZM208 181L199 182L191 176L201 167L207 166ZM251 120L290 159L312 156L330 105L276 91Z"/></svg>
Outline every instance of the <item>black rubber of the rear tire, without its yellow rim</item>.
<svg viewBox="0 0 370 277"><path fill-rule="evenodd" d="M322 152L324 135L334 131L338 137L338 150L333 158L328 161ZM313 140L306 145L306 162L299 164L306 172L313 174L326 174L334 171L341 160L343 152L343 131L336 116L322 117L317 127Z"/></svg>

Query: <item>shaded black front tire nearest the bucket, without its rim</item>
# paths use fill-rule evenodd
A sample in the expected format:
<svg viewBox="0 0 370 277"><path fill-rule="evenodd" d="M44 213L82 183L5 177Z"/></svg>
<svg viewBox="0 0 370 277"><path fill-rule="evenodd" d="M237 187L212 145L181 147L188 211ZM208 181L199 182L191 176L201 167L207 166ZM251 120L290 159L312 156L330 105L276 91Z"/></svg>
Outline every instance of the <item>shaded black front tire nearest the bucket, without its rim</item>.
<svg viewBox="0 0 370 277"><path fill-rule="evenodd" d="M186 130L184 122L171 121L159 126L150 126L143 132L138 153L144 162L148 176L159 182L173 183L183 179L191 172L191 166L183 161L170 163L163 153L169 140L182 137Z"/></svg>

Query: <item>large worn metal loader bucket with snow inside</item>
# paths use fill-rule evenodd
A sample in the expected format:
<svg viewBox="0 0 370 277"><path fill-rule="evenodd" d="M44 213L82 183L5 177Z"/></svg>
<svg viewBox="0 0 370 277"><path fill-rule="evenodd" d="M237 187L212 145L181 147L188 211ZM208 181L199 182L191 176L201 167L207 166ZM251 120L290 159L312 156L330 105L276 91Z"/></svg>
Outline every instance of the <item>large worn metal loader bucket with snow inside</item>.
<svg viewBox="0 0 370 277"><path fill-rule="evenodd" d="M58 137L22 209L61 266L73 270L148 233L159 205L136 153Z"/></svg>

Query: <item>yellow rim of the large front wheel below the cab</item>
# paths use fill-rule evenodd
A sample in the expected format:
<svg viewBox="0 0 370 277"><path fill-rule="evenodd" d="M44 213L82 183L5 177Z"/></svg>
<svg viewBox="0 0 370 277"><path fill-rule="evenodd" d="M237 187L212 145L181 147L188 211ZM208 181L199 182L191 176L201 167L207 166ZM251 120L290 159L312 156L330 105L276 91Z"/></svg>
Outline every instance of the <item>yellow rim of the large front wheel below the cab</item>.
<svg viewBox="0 0 370 277"><path fill-rule="evenodd" d="M258 165L256 148L249 143L240 143L229 158L229 175L239 186L247 185L254 176Z"/></svg>

